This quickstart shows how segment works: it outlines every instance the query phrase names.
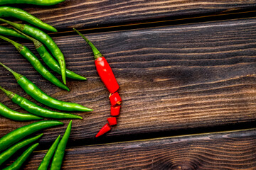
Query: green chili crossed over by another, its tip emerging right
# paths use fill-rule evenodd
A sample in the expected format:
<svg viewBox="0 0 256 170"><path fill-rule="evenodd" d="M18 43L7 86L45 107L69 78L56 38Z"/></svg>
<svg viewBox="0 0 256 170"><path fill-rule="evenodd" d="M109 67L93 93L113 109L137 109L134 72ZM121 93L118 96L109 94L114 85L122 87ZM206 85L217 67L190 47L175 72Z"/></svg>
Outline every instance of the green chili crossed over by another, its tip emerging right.
<svg viewBox="0 0 256 170"><path fill-rule="evenodd" d="M44 47L44 45L40 41L36 40L35 38L31 38L30 36L22 33L20 30L17 30L16 28L14 28L14 30L16 30L16 32L20 33L21 35L25 36L26 39L31 40L34 43L39 55L43 59L43 62L45 62L48 65L48 67L50 67L50 69L52 69L54 72L61 74L60 65L58 64L58 62L56 62L56 60L53 59L50 53L46 50L46 47ZM85 77L75 74L74 72L71 72L68 69L66 69L66 76L71 79L87 80Z"/></svg>

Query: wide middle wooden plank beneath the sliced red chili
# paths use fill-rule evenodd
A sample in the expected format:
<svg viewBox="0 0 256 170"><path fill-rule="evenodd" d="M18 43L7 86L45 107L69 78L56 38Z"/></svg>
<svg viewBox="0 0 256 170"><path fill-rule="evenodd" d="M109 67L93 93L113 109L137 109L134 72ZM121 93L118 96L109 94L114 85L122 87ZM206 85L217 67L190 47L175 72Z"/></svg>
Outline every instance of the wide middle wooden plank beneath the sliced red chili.
<svg viewBox="0 0 256 170"><path fill-rule="evenodd" d="M118 125L106 137L169 135L193 128L255 123L255 28L256 19L251 18L87 35L110 63L123 99ZM88 78L84 82L69 79L70 93L48 83L4 42L0 61L50 96L94 109L76 113L84 120L74 120L70 139L83 145L95 140L110 116L109 93L97 75L90 47L79 35L54 40L63 50L68 68ZM2 67L0 85L29 98ZM6 106L22 111L4 94L0 98ZM1 137L28 123L0 118L0 124ZM64 130L47 130L42 142L52 142Z"/></svg>

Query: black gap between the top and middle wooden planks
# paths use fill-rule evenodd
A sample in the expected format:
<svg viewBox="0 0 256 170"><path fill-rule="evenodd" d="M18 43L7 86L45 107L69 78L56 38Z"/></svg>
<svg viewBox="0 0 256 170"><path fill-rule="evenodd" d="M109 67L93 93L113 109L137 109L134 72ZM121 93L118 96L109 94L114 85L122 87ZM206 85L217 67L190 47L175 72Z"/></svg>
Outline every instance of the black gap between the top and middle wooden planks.
<svg viewBox="0 0 256 170"><path fill-rule="evenodd" d="M103 26L98 28L77 28L82 33L114 33L127 30L143 30L146 28L162 28L166 26L189 26L195 23L214 23L221 21L235 21L240 19L256 18L256 11L239 11L235 13L220 13L208 16L193 16L188 18L167 19L160 21L147 21L141 23L127 23L116 26ZM76 35L75 30L65 28L58 33L48 33L51 37Z"/></svg>

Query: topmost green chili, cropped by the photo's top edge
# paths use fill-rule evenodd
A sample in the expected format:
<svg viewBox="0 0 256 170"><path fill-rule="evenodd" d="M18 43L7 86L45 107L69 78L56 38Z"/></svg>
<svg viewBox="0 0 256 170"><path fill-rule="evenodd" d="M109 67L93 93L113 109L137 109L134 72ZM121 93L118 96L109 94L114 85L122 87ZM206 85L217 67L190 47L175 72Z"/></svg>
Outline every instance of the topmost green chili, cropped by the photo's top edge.
<svg viewBox="0 0 256 170"><path fill-rule="evenodd" d="M59 4L65 0L0 0L0 5L4 4L32 4L32 5L39 5L39 6L52 6L55 4Z"/></svg>

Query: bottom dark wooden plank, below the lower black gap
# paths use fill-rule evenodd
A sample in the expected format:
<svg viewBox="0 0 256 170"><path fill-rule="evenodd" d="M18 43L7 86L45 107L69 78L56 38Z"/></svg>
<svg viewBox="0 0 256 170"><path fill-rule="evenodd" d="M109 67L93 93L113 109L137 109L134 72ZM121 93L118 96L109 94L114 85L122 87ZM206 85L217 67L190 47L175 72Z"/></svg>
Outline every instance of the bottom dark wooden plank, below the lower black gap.
<svg viewBox="0 0 256 170"><path fill-rule="evenodd" d="M46 151L33 154L36 169ZM256 169L256 130L66 149L63 169Z"/></svg>

